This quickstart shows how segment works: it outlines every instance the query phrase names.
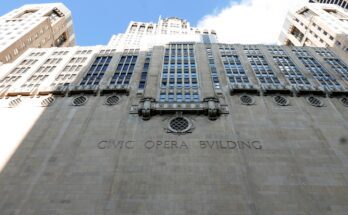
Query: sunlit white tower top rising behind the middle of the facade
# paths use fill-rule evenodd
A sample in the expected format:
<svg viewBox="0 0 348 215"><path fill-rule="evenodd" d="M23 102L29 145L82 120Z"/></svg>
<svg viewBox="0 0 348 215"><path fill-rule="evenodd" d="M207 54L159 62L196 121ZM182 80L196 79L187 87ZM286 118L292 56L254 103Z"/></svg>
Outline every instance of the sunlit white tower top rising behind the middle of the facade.
<svg viewBox="0 0 348 215"><path fill-rule="evenodd" d="M148 49L169 42L216 43L217 36L214 30L195 28L186 20L170 17L159 18L158 23L132 21L126 32L113 35L108 45L117 50Z"/></svg>

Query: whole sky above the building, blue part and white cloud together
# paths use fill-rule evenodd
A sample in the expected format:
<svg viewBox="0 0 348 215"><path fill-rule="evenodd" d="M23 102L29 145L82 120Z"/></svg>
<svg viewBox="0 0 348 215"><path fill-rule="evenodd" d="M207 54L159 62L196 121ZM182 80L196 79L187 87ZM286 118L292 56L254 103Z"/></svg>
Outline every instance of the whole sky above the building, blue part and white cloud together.
<svg viewBox="0 0 348 215"><path fill-rule="evenodd" d="M50 0L0 0L0 15ZM306 0L60 0L73 14L77 45L107 44L130 21L176 16L215 29L220 42L276 43L289 8Z"/></svg>

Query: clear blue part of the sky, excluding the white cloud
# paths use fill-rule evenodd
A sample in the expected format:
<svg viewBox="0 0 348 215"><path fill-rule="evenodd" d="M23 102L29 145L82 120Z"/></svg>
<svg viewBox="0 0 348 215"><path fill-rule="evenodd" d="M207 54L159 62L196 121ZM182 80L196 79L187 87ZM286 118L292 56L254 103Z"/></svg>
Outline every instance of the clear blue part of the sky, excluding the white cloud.
<svg viewBox="0 0 348 215"><path fill-rule="evenodd" d="M59 1L59 0L58 0ZM214 14L232 0L60 0L73 13L78 45L106 44L112 34L124 32L129 21L157 21L177 16L192 25L207 14ZM0 0L3 15L23 4L57 2L50 0Z"/></svg>

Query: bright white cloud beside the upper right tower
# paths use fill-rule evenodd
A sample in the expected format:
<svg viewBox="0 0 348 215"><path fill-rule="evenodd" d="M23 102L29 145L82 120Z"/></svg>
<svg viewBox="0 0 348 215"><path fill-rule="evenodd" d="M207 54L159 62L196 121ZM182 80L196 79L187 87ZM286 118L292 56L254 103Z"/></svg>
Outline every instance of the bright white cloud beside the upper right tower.
<svg viewBox="0 0 348 215"><path fill-rule="evenodd" d="M231 1L227 8L207 15L198 27L214 29L219 42L277 43L289 9L308 0L242 0Z"/></svg>

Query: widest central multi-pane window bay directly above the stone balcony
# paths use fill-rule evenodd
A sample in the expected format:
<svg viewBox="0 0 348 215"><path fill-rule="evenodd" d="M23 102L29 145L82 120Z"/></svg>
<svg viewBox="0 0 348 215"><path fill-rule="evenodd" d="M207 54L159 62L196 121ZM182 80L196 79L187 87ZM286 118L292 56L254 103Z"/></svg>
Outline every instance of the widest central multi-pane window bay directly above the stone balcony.
<svg viewBox="0 0 348 215"><path fill-rule="evenodd" d="M165 49L160 88L160 102L200 102L193 44Z"/></svg>

